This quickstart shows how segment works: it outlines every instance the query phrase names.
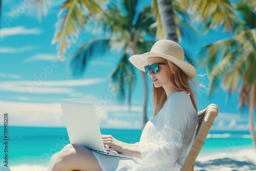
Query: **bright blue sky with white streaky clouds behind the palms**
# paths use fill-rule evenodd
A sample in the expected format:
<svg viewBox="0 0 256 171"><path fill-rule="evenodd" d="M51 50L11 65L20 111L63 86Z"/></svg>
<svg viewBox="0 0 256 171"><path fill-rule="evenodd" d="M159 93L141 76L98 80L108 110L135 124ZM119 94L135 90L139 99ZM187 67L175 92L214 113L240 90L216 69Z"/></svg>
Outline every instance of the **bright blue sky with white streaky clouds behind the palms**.
<svg viewBox="0 0 256 171"><path fill-rule="evenodd" d="M25 4L27 2L28 4ZM8 112L10 125L22 126L65 126L59 104L60 99L93 98L101 127L140 129L143 84L137 72L137 82L132 94L131 110L127 101L122 102L111 92L109 74L120 60L117 52L96 55L81 76L72 76L69 59L61 62L57 57L57 44L51 41L60 2L53 2L41 22L36 13L29 12L29 1L3 1L0 33L0 113ZM144 4L140 3L140 7ZM72 43L72 53L93 36L87 31ZM191 54L209 42L230 36L229 33L211 32L198 37L193 44L182 41L181 45ZM194 56L195 62L199 58ZM197 67L197 74L206 74ZM208 82L207 76L197 77L199 82ZM152 90L148 79L149 90ZM150 92L149 92L150 95ZM220 114L213 126L215 130L248 130L248 110L240 114L237 107L238 93L227 101L227 93L218 89L214 96L207 98L206 90L198 93L198 109L210 103L219 106ZM148 99L148 118L153 114ZM1 116L1 115L0 115ZM1 118L0 118L1 124Z"/></svg>

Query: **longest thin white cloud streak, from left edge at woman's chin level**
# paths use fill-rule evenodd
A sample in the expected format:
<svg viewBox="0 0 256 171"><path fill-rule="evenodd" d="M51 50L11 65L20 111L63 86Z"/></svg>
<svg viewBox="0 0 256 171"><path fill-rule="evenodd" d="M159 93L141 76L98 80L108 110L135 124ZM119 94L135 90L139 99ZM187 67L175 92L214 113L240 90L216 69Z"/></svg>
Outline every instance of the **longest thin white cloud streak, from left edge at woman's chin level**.
<svg viewBox="0 0 256 171"><path fill-rule="evenodd" d="M89 86L92 84L105 81L104 78L79 79L79 80L60 80L60 81L44 81L40 79L24 80L24 81L0 81L0 91L10 91L19 93L74 93L72 88L61 87L77 87Z"/></svg>

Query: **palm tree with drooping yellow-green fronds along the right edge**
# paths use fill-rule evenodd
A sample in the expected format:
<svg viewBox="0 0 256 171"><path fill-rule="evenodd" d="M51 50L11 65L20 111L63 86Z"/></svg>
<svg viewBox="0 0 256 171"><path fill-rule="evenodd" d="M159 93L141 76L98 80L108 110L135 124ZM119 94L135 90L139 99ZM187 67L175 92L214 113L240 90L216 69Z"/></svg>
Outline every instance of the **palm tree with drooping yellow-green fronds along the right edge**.
<svg viewBox="0 0 256 171"><path fill-rule="evenodd" d="M255 5L255 3L254 3ZM228 94L240 87L239 105L241 109L249 105L249 123L253 144L256 149L254 130L254 109L256 107L256 13L255 6L241 1L237 11L242 18L236 25L234 36L204 46L201 61L210 78L209 95L222 82ZM253 11L254 10L254 11ZM218 64L216 64L218 62ZM220 80L223 78L222 80Z"/></svg>

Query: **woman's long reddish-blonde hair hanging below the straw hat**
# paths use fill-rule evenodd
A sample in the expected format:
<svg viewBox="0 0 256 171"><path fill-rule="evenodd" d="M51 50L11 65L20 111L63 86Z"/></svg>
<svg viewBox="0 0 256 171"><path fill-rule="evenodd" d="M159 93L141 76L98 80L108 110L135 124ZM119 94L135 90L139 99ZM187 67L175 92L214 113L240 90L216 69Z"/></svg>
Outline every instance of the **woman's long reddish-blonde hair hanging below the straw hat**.
<svg viewBox="0 0 256 171"><path fill-rule="evenodd" d="M161 58L161 57L160 57ZM191 83L195 86L196 82L191 80L186 76L186 74L173 62L161 58L164 63L166 63L167 67L162 67L163 72L165 73L166 79L172 85L177 91L185 91L187 93L190 93L190 99L193 103L193 106L196 111L197 109L197 102L195 98L195 92L191 88ZM154 106L154 116L155 117L158 112L163 108L164 102L167 100L166 93L163 89L163 87L155 88L153 85L153 90L151 93L152 100L153 100L153 106Z"/></svg>

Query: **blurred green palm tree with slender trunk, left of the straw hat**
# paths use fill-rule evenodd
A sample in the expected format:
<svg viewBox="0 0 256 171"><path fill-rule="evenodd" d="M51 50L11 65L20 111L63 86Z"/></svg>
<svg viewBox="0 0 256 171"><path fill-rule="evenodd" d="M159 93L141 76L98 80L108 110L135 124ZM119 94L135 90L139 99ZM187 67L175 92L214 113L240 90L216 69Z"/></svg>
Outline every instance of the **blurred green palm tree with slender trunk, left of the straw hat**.
<svg viewBox="0 0 256 171"><path fill-rule="evenodd" d="M64 14L60 25L60 29L55 35L54 42L59 40L60 44L65 45L66 42L62 42L65 35L77 33L74 23L80 21L79 27L86 26L89 22L94 21L94 29L100 29L105 33L112 34L109 37L96 37L86 44L82 45L71 57L71 68L74 74L82 73L88 64L89 59L95 52L104 54L110 49L121 50L122 57L118 63L116 69L111 73L112 81L115 83L114 88L121 93L121 97L125 97L125 88L128 89L127 96L129 105L131 102L131 92L135 83L135 71L131 63L129 62L129 56L133 54L141 54L150 51L155 42L156 28L153 27L155 23L154 15L150 6L145 7L138 16L136 16L137 0L122 0L121 1L125 11L121 11L117 5L107 6L106 9L100 12L92 13L88 12L85 16L79 15L84 13L77 8L79 5L63 4L67 13L72 11L70 16L73 18L67 18L68 14ZM89 8L88 8L89 9ZM82 9L80 9L82 10ZM79 16L78 16L79 15ZM85 19L82 19L85 18ZM66 26L63 26L66 21ZM67 27L70 27L68 30ZM146 36L147 35L147 36ZM145 39L147 38L147 39ZM60 49L64 49L60 45ZM117 46L118 45L118 46ZM100 48L99 48L100 47ZM60 55L63 51L60 52ZM146 106L147 106L147 84L144 72L140 72L144 83L144 101L143 101L143 127L147 122L146 118Z"/></svg>

